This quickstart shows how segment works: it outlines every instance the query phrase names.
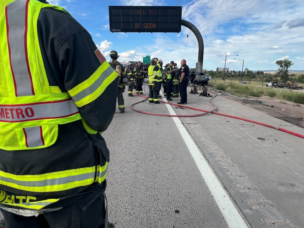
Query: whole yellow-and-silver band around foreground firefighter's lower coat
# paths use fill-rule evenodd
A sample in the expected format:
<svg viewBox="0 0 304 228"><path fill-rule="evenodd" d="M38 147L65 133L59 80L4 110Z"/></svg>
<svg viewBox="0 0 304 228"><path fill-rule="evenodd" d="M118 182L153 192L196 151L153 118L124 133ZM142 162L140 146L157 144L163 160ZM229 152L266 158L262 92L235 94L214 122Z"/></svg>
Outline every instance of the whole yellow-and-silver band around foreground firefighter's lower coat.
<svg viewBox="0 0 304 228"><path fill-rule="evenodd" d="M91 185L95 166L40 175L15 175L0 171L0 184L28 192L56 192Z"/></svg>

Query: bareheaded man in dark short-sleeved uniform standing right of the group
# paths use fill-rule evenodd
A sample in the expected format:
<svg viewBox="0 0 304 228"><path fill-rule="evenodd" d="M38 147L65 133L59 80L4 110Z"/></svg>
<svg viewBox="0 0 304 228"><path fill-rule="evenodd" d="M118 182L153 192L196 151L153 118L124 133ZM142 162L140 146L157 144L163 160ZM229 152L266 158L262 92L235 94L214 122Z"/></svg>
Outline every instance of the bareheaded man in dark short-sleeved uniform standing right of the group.
<svg viewBox="0 0 304 228"><path fill-rule="evenodd" d="M187 104L187 86L189 82L190 69L186 64L186 60L181 60L181 68L178 70L180 75L179 79L179 94L181 95L181 101L178 104Z"/></svg>

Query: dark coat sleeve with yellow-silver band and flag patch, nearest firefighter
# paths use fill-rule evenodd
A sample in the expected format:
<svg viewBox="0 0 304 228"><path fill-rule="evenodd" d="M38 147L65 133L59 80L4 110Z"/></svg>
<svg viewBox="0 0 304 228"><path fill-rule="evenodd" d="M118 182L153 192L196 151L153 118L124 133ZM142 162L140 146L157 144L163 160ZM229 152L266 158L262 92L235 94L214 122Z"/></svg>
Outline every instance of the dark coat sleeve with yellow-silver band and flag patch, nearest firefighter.
<svg viewBox="0 0 304 228"><path fill-rule="evenodd" d="M71 15L42 9L37 26L50 86L69 92L88 125L105 131L116 109L116 72Z"/></svg>

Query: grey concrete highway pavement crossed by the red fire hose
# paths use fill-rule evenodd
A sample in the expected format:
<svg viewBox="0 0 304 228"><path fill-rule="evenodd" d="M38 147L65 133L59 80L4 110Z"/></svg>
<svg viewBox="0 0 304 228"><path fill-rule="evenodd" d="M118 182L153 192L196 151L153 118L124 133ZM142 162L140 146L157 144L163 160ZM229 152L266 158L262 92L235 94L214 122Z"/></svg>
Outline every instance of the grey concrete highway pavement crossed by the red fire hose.
<svg viewBox="0 0 304 228"><path fill-rule="evenodd" d="M140 99L125 94L126 106ZM213 102L218 112L304 134L300 127L223 97ZM188 94L187 105L212 109L209 98L198 95ZM135 107L170 113L165 104L144 102ZM199 113L173 109L178 114ZM302 138L214 114L180 120L247 227L303 227ZM109 220L117 227L229 227L231 217L225 217L226 208L209 190L172 117L148 116L129 108L120 114L117 109L104 137L111 152Z"/></svg>

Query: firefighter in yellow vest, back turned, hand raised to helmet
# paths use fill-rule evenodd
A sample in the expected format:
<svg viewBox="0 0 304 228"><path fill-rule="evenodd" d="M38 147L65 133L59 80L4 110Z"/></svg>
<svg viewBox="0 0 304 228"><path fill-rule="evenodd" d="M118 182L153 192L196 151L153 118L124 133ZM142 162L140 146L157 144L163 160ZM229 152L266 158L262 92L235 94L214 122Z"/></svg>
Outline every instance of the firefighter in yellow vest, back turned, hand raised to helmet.
<svg viewBox="0 0 304 228"><path fill-rule="evenodd" d="M161 73L162 61L157 58L151 60L148 68L149 76L149 103L160 104L158 94L161 90L161 82L163 81Z"/></svg>

